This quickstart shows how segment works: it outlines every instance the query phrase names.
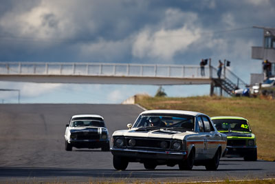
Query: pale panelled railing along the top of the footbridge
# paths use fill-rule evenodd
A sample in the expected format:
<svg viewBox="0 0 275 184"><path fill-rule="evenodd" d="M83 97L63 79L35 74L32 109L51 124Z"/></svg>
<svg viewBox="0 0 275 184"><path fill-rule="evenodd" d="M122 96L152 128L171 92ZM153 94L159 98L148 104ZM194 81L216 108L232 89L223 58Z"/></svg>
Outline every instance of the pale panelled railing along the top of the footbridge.
<svg viewBox="0 0 275 184"><path fill-rule="evenodd" d="M150 65L126 63L30 63L1 62L1 74L72 76L151 76L170 78L210 78L208 66L201 76L199 65Z"/></svg>

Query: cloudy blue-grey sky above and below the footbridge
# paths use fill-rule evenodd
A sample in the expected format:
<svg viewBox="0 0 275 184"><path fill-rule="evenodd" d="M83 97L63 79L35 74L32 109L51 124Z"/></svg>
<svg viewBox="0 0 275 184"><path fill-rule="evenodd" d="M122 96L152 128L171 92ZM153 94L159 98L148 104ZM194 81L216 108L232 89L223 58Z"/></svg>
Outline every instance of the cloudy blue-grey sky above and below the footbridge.
<svg viewBox="0 0 275 184"><path fill-rule="evenodd" d="M275 28L273 0L0 0L0 62L80 62L199 65L231 61L250 83L261 61L263 30ZM155 85L15 83L21 103L121 103L135 94L155 95ZM208 95L209 85L163 86L168 96ZM1 92L0 103L17 103Z"/></svg>

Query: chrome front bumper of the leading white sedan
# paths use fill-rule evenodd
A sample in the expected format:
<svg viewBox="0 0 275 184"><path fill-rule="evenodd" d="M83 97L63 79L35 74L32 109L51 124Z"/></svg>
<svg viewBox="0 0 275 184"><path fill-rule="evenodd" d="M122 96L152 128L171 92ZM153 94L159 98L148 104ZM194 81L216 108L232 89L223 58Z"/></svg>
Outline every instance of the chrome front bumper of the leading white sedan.
<svg viewBox="0 0 275 184"><path fill-rule="evenodd" d="M123 156L130 159L182 160L186 158L187 154L187 152L131 150L118 147L112 147L110 150L114 156Z"/></svg>

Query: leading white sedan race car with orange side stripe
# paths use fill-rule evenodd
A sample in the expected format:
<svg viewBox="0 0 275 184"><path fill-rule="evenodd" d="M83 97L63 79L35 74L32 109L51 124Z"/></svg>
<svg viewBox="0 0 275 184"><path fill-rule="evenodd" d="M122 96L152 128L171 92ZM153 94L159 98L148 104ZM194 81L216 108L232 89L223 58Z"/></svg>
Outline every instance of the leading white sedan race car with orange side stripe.
<svg viewBox="0 0 275 184"><path fill-rule="evenodd" d="M125 170L129 162L140 162L148 170L157 165L192 170L205 165L217 170L226 152L226 136L216 130L206 114L180 110L148 110L129 130L113 133L113 167Z"/></svg>

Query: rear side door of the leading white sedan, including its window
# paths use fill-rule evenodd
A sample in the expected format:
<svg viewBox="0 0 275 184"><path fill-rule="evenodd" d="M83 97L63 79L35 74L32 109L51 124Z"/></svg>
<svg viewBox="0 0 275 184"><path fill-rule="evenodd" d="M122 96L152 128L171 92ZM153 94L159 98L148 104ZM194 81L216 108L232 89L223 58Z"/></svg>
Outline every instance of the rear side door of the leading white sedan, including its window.
<svg viewBox="0 0 275 184"><path fill-rule="evenodd" d="M204 131L206 132L207 158L212 159L219 144L219 141L217 140L218 134L214 131L214 127L207 116L201 116L201 119L203 120Z"/></svg>

